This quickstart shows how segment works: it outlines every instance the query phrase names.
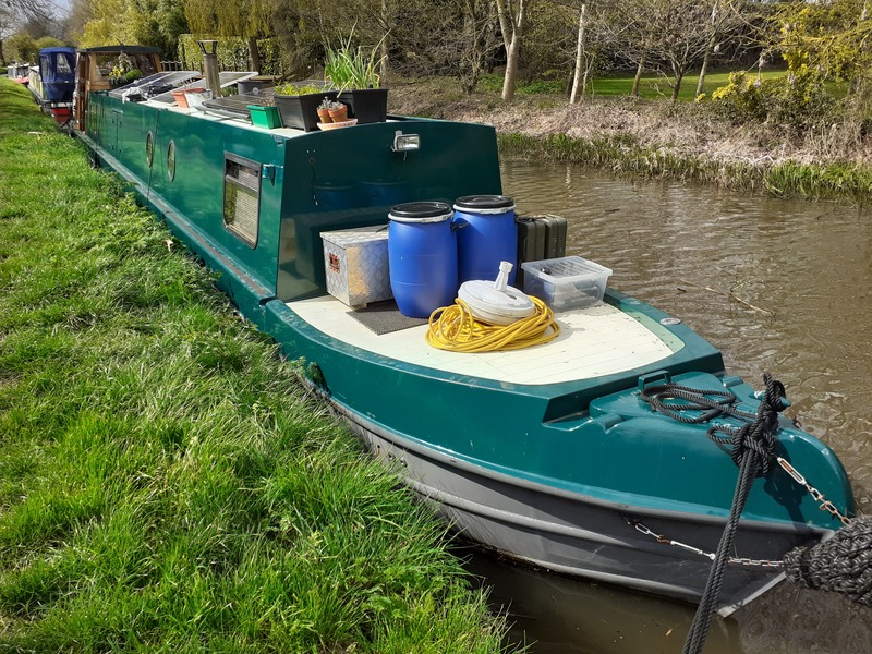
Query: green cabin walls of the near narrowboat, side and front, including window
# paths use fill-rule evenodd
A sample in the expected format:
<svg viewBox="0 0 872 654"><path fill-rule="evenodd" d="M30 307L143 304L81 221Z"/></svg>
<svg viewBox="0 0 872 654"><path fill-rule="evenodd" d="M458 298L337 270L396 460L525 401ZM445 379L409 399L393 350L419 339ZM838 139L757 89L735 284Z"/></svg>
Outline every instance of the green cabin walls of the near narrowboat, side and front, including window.
<svg viewBox="0 0 872 654"><path fill-rule="evenodd" d="M267 130L113 96L92 94L88 141L150 208L189 225L203 249L251 278L264 295L253 302L325 294L323 232L387 225L402 202L501 193L491 126L390 117L324 132ZM400 149L400 135L420 147Z"/></svg>

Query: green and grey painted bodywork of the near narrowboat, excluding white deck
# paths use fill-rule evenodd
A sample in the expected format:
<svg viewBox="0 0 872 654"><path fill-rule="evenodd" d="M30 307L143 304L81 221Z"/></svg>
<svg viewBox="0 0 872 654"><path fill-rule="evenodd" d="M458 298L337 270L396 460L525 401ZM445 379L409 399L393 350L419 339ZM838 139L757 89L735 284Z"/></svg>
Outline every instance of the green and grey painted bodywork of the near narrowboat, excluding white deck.
<svg viewBox="0 0 872 654"><path fill-rule="evenodd" d="M493 129L396 119L323 133L268 131L107 94L90 102L81 136L94 157L219 272L220 288L246 318L288 358L305 360L313 384L376 453L404 465L410 485L438 499L460 530L555 570L699 596L708 559L657 543L633 521L714 550L737 469L706 437L707 425L677 423L641 402L639 378L667 374L688 386L729 388L752 411L759 402L691 329L609 291L608 303L673 353L594 379L526 385L376 355L327 336L288 306L325 294L322 231L384 223L399 202L500 193ZM419 134L421 152L393 152L397 131ZM259 223L249 242L222 218L228 157L258 167ZM825 445L784 422L778 448L831 501L853 512L845 471ZM838 526L776 469L754 484L737 550L777 559ZM775 574L731 568L725 603L746 601Z"/></svg>

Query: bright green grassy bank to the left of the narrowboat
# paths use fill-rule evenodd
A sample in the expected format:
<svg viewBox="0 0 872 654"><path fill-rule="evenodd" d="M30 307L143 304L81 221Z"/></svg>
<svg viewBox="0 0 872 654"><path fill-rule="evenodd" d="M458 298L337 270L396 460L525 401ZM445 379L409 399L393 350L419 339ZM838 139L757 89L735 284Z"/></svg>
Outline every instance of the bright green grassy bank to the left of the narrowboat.
<svg viewBox="0 0 872 654"><path fill-rule="evenodd" d="M0 80L0 649L499 651L396 485Z"/></svg>

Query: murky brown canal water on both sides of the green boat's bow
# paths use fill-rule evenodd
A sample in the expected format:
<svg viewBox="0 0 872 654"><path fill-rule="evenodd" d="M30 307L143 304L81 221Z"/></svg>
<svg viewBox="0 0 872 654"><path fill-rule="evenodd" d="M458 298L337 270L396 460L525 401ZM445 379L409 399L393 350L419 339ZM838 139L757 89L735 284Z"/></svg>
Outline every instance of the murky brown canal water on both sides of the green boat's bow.
<svg viewBox="0 0 872 654"><path fill-rule="evenodd" d="M836 451L872 514L872 211L566 165L502 174L519 214L567 218L567 254L611 268L610 287L683 320L752 385L782 380L788 415ZM693 606L465 554L534 654L682 650ZM870 654L872 609L786 582L718 618L704 652Z"/></svg>

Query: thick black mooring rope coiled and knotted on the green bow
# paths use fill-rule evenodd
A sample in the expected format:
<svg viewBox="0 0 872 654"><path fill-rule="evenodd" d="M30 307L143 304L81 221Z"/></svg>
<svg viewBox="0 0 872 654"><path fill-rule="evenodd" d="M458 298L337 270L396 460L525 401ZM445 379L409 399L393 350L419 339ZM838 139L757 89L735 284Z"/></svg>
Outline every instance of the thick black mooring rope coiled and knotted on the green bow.
<svg viewBox="0 0 872 654"><path fill-rule="evenodd" d="M785 400L784 385L775 382L768 373L763 375L763 382L766 385L766 391L755 414L737 410L732 405L736 402L736 396L729 391L697 390L675 384L652 387L642 391L642 399L649 402L655 411L685 423L699 424L718 415L753 419L753 422L747 422L741 427L713 425L708 429L708 435L713 439L732 445L731 456L734 462L739 465L739 479L736 481L729 518L724 533L720 535L715 560L708 571L705 591L685 641L683 654L702 652L708 635L712 616L720 596L724 572L732 552L739 518L748 501L754 477L768 472L775 456L778 413L787 407L787 401ZM667 403L668 400L676 399L682 401ZM718 432L728 434L728 437L719 436Z"/></svg>

